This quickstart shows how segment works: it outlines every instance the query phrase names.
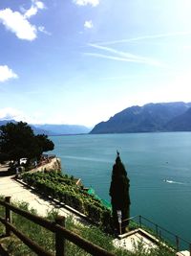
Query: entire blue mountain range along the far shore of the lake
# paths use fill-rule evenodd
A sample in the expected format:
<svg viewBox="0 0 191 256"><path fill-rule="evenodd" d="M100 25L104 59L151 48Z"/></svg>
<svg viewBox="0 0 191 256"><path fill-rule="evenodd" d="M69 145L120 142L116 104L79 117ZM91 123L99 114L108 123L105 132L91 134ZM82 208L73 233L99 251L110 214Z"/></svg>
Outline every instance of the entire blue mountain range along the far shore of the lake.
<svg viewBox="0 0 191 256"><path fill-rule="evenodd" d="M0 120L0 126L15 120ZM74 125L30 125L35 134L99 134L156 131L191 131L191 103L158 103L133 105L91 130Z"/></svg>

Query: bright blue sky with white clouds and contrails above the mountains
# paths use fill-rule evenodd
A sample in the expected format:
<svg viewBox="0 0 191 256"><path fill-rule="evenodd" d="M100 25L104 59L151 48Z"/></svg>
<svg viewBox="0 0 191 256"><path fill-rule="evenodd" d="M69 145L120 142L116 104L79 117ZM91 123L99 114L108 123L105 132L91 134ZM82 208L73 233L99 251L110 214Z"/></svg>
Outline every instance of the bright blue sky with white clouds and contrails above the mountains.
<svg viewBox="0 0 191 256"><path fill-rule="evenodd" d="M94 127L191 102L191 0L1 0L0 120Z"/></svg>

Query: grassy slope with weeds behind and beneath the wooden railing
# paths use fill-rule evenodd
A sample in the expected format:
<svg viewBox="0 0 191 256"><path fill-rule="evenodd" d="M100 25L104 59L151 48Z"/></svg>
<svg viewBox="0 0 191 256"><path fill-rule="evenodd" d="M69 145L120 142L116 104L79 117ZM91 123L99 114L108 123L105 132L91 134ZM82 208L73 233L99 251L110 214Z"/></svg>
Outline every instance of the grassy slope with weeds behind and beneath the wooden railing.
<svg viewBox="0 0 191 256"><path fill-rule="evenodd" d="M36 213L35 210L31 209L29 210L29 204L26 202L17 202L15 203L16 206L30 211L32 213ZM48 214L47 218L51 221L54 220L54 217L57 215L56 211L53 211ZM0 206L0 216L4 216L4 209ZM40 227L39 225L33 223L32 221L28 221L23 217L19 217L16 214L12 213L12 221L13 224L19 229L22 230L24 234L29 236L32 241L35 241L37 244L40 244L44 248L46 248L48 251L54 253L54 236L53 233L50 231L47 231L45 228ZM128 252L127 250L120 250L114 247L112 241L114 237L105 234L102 232L98 227L96 226L82 226L80 224L74 223L72 218L68 218L66 221L66 227L72 231L74 231L76 234L80 235L81 237L89 240L90 242L97 244L106 250L115 253L116 255L120 256L170 256L174 255L172 253L169 253L164 248L159 248L157 250L153 250L150 253L145 252L145 250L142 247L142 244L138 244L138 246L135 247L135 252ZM0 223L0 234L4 234L5 229L3 225ZM22 244L17 238L15 238L13 235L11 238L1 239L1 244L3 244L8 251L11 253L11 255L14 256L23 256L23 255L35 255L35 253L32 253L32 251L24 244ZM66 255L67 256L84 256L89 255L84 250L78 248L76 245L67 242L66 243Z"/></svg>

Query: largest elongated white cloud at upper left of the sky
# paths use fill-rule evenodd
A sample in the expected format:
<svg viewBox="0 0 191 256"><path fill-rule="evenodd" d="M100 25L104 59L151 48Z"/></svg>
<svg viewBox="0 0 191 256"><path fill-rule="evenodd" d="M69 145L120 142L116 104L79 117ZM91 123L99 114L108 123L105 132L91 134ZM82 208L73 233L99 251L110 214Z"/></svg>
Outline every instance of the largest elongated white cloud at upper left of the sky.
<svg viewBox="0 0 191 256"><path fill-rule="evenodd" d="M37 36L36 27L20 12L12 12L11 9L1 10L0 23L20 39L33 40Z"/></svg>

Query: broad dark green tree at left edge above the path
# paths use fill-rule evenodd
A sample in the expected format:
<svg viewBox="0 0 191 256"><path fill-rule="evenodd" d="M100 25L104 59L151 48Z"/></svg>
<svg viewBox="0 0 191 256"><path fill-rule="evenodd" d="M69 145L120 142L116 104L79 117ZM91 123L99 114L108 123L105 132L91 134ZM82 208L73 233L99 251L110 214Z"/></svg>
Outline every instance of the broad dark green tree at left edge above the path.
<svg viewBox="0 0 191 256"><path fill-rule="evenodd" d="M43 151L52 151L53 142L46 135L35 136L32 128L23 122L0 127L1 160L39 157Z"/></svg>

